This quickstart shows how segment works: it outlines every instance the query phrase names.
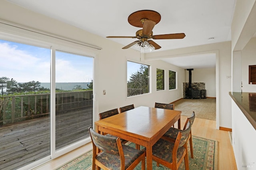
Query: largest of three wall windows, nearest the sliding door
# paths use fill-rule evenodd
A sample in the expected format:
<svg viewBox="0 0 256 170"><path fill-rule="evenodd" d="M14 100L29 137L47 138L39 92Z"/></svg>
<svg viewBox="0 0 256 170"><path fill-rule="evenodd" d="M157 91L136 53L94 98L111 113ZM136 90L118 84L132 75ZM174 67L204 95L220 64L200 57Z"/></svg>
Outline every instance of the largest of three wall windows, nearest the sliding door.
<svg viewBox="0 0 256 170"><path fill-rule="evenodd" d="M127 97L149 93L149 65L127 61Z"/></svg>

